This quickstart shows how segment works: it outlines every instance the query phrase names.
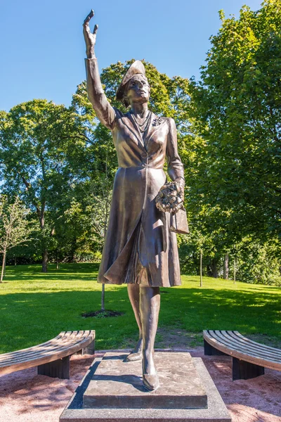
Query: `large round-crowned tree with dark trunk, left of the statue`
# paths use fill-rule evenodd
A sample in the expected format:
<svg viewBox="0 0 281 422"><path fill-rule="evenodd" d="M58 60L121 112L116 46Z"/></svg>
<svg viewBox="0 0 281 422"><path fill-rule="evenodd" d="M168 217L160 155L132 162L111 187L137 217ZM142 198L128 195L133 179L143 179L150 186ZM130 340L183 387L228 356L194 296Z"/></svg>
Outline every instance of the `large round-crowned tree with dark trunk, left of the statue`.
<svg viewBox="0 0 281 422"><path fill-rule="evenodd" d="M9 195L20 191L25 205L36 212L44 272L54 219L77 177L81 144L84 147L81 124L65 106L33 100L0 115L2 189Z"/></svg>

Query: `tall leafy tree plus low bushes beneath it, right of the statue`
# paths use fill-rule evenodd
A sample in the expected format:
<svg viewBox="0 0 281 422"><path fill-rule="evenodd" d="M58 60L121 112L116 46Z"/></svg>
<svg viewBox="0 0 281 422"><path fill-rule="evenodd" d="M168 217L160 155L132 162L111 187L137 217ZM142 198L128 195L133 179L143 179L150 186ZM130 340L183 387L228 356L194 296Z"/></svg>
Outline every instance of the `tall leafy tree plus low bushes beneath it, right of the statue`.
<svg viewBox="0 0 281 422"><path fill-rule="evenodd" d="M185 192L190 236L181 239L186 271L221 276L223 257L238 279L280 285L281 4L221 15L201 80L190 82Z"/></svg>

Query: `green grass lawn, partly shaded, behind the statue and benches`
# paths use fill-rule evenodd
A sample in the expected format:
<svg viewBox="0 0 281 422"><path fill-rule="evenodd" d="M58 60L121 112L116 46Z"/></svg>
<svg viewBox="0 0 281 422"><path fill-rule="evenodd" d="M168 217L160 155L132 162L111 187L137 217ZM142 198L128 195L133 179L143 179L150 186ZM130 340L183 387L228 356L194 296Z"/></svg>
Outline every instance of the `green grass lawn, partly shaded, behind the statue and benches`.
<svg viewBox="0 0 281 422"><path fill-rule="evenodd" d="M96 330L96 348L131 347L137 326L126 286L105 286L106 309L124 312L110 318L83 318L100 309L98 264L7 267L0 284L0 352L42 343L67 330ZM281 346L281 288L233 284L233 281L182 276L183 285L162 288L158 347L169 347L171 336L186 347L202 344L202 330L238 330L263 343ZM169 335L167 335L169 333ZM175 340L176 338L176 340ZM178 339L178 340L177 340ZM191 341L190 341L191 339Z"/></svg>

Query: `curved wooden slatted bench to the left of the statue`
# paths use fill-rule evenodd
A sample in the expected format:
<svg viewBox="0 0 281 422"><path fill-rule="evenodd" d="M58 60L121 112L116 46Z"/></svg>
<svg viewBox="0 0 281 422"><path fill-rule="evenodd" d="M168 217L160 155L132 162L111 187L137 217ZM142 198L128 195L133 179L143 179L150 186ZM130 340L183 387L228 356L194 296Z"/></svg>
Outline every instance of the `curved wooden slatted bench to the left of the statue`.
<svg viewBox="0 0 281 422"><path fill-rule="evenodd" d="M94 354L95 331L62 331L41 345L0 354L0 375L38 366L40 375L70 378L70 355Z"/></svg>

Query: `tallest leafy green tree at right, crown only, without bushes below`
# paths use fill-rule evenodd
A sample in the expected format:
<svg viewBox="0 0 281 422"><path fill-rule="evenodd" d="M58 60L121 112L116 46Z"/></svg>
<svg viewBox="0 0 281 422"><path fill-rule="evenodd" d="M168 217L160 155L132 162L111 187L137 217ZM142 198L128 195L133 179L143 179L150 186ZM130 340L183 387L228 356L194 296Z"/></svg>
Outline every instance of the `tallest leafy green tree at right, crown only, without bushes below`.
<svg viewBox="0 0 281 422"><path fill-rule="evenodd" d="M201 139L191 191L221 216L230 212L233 236L263 242L281 236L281 4L220 15L201 80L190 87Z"/></svg>

